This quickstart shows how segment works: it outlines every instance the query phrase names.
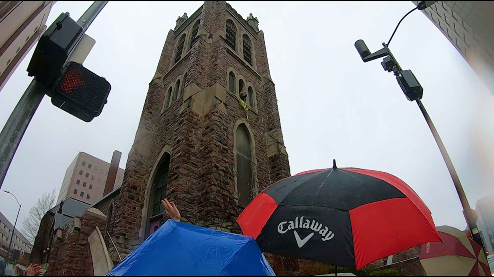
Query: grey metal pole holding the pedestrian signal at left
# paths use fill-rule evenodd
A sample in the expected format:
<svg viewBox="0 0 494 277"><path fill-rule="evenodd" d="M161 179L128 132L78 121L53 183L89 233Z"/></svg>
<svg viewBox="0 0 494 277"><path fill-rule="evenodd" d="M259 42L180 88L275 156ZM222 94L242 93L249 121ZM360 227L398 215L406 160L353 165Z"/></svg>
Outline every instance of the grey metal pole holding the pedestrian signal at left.
<svg viewBox="0 0 494 277"><path fill-rule="evenodd" d="M77 23L84 32L107 3L108 1L94 1L82 14ZM47 91L48 88L34 78L0 132L0 189L15 151Z"/></svg>

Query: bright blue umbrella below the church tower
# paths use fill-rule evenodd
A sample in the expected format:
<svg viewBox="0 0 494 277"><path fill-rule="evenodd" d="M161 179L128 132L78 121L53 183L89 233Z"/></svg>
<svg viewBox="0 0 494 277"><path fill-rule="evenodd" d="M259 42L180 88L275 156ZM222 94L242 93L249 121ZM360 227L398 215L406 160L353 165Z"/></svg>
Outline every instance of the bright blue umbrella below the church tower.
<svg viewBox="0 0 494 277"><path fill-rule="evenodd" d="M252 237L168 220L108 275L275 273Z"/></svg>

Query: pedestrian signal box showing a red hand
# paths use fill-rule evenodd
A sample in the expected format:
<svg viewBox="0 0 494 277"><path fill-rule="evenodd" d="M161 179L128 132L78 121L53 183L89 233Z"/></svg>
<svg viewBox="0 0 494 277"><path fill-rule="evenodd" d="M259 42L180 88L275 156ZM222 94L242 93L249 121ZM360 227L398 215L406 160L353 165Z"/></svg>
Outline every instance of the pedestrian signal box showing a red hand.
<svg viewBox="0 0 494 277"><path fill-rule="evenodd" d="M100 115L110 89L111 85L105 78L79 63L69 62L49 96L55 106L89 122Z"/></svg>

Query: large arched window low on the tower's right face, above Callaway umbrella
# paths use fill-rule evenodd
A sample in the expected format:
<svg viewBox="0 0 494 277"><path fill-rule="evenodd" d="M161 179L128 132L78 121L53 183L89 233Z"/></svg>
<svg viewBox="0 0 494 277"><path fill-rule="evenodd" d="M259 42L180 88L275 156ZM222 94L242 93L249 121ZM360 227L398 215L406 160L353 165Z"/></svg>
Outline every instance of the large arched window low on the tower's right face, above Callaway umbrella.
<svg viewBox="0 0 494 277"><path fill-rule="evenodd" d="M252 169L250 139L244 124L237 128L237 192L239 204L247 206L252 201Z"/></svg>

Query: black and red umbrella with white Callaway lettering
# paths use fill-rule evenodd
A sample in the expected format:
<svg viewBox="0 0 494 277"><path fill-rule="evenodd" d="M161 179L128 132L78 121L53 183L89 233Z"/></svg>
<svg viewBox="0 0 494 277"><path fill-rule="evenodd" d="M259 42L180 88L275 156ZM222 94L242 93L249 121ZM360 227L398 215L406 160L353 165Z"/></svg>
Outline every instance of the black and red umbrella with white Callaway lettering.
<svg viewBox="0 0 494 277"><path fill-rule="evenodd" d="M237 222L264 252L357 270L441 241L431 212L404 181L335 163L267 187Z"/></svg>

